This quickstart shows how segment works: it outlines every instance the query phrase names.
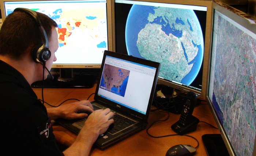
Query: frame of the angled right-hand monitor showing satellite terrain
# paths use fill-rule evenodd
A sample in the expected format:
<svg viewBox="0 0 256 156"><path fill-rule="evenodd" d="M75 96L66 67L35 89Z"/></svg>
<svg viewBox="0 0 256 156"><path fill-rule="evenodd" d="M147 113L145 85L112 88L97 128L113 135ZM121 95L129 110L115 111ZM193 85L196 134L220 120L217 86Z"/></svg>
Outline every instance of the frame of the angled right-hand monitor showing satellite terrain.
<svg viewBox="0 0 256 156"><path fill-rule="evenodd" d="M235 8L231 8L233 11L236 11L236 12L241 12L241 11L238 11L237 9ZM221 5L217 4L217 3L212 3L212 17L214 18L214 11L217 10L218 12L222 13L223 15L229 17L230 19L232 19L234 22L240 24L242 27L245 27L247 28L248 30L252 30L255 34L256 34L256 27L255 27L255 24L252 24L252 23L255 23L255 22L252 22L250 23L250 21L248 19L245 19L244 17L241 17L240 15L237 15L236 13L232 12L232 11L229 11L227 8L224 8L222 7ZM245 13L242 13L241 14L244 14ZM212 21L212 27L213 27L213 21ZM213 33L213 29L212 29L212 33ZM209 74L208 74L208 78L207 78L207 84L210 83L210 68L211 68L211 55L210 55L210 58L209 58L209 63L208 63L208 71L209 71ZM206 95L206 101L208 103L208 105L210 106L210 110L214 116L214 119L218 125L218 128L219 128L219 131L221 133L221 136L222 136L222 139L226 145L226 148L227 148L227 151L229 152L230 155L233 155L235 156L236 153L234 152L234 149L230 143L230 140L227 136L227 134L225 133L225 130L220 122L220 119L217 115L217 112L215 111L214 109L214 106L210 100L210 97L209 97L209 87L207 87L207 95ZM256 136L255 136L255 139L254 141L256 141ZM254 149L253 149L253 155L256 154L256 143L254 144Z"/></svg>

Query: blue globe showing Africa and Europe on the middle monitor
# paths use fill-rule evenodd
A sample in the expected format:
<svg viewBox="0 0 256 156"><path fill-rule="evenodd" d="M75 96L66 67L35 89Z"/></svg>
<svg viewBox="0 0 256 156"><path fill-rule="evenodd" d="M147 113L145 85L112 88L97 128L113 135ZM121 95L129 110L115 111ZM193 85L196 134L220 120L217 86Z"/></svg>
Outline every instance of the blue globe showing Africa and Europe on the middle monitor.
<svg viewBox="0 0 256 156"><path fill-rule="evenodd" d="M133 5L127 19L128 55L161 63L159 76L190 85L203 62L203 33L193 10Z"/></svg>

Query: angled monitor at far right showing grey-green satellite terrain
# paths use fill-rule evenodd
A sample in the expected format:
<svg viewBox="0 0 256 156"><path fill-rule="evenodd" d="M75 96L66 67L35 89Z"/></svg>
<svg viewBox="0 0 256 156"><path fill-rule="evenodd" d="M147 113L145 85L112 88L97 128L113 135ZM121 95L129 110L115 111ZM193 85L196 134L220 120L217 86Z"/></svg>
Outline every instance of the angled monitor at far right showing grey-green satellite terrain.
<svg viewBox="0 0 256 156"><path fill-rule="evenodd" d="M233 11L213 4L207 101L229 154L255 156L256 20Z"/></svg>

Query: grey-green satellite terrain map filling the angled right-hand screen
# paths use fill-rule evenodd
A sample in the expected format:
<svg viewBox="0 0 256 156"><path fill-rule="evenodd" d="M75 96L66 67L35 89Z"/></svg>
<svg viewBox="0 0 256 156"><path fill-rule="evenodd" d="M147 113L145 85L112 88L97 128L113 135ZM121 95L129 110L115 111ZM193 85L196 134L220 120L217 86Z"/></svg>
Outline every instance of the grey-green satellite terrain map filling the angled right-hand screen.
<svg viewBox="0 0 256 156"><path fill-rule="evenodd" d="M221 16L215 20L218 41L212 101L236 155L252 156L256 135L256 39Z"/></svg>

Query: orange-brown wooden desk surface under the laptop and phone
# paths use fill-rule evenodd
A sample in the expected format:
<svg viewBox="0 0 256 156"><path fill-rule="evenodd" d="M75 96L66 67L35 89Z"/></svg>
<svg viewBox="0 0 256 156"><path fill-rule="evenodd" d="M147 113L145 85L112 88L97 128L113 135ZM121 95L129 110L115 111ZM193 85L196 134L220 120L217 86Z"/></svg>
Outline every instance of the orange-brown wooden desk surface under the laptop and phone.
<svg viewBox="0 0 256 156"><path fill-rule="evenodd" d="M59 105L64 100L69 98L77 98L79 100L86 100L91 93L94 93L96 85L90 89L44 89L44 100L52 105ZM38 98L42 98L41 89L33 89L37 94ZM93 96L90 97L90 101L93 101ZM70 103L72 101L68 101ZM46 107L48 107L46 105ZM210 108L208 105L199 105L194 109L193 115L199 118L200 121L208 122L214 126L217 126ZM157 120L163 120L167 117L167 113L163 111L151 112L148 125ZM179 119L180 115L170 113L170 117L167 121L160 122L152 126L149 133L153 136L163 136L167 134L175 134L170 128L174 122ZM56 123L53 123L53 133L56 140L60 143L70 146L76 135L71 133L69 130L63 128ZM203 134L214 134L219 133L218 129L214 129L211 126L199 122L197 130L188 135L195 137L199 141L199 148L197 148L196 156L206 156L206 150L202 142ZM171 136L163 138L153 138L148 136L146 130L142 130L139 133L134 134L127 139L118 142L111 147L100 150L97 147L93 147L91 150L91 156L104 155L104 156L165 156L166 151L177 144L190 144L196 146L197 143L190 137L185 136Z"/></svg>

